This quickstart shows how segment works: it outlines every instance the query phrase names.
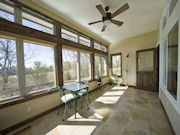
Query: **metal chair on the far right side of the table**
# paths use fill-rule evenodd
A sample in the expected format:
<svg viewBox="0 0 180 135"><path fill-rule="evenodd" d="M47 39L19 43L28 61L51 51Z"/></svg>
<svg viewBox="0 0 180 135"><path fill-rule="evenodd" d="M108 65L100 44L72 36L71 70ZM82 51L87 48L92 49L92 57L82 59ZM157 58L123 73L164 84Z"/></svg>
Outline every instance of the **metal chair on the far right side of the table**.
<svg viewBox="0 0 180 135"><path fill-rule="evenodd" d="M80 83L89 85L89 82L88 82L88 81L82 81L82 82L80 82ZM87 103L87 108L89 109L88 103L89 103L90 99L89 99L89 96L88 96L88 89L82 89L82 90L80 90L80 91L77 93L77 95L78 95L79 97L81 97L81 108L83 107L83 106L82 106L83 96L84 96L84 95L87 95L86 103Z"/></svg>

